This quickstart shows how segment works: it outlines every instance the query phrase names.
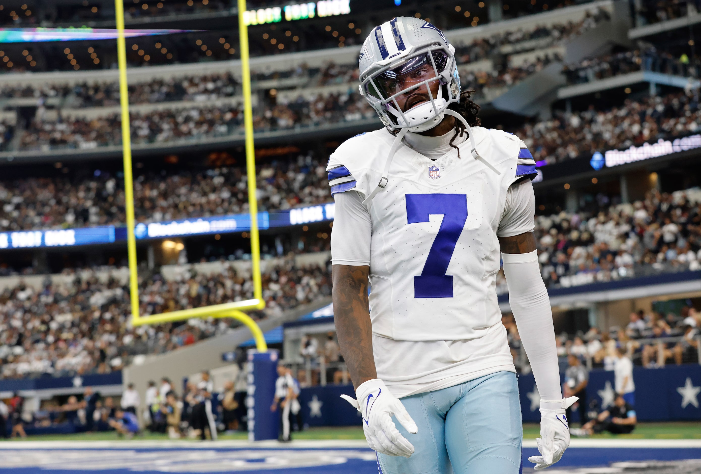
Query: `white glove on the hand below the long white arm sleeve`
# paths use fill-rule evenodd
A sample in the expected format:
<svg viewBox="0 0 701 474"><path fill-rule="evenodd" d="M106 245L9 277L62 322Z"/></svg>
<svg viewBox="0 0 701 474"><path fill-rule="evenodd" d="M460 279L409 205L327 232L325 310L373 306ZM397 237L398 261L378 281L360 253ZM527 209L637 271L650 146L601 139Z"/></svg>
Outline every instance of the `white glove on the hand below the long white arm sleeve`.
<svg viewBox="0 0 701 474"><path fill-rule="evenodd" d="M562 458L569 446L569 425L565 409L577 400L579 397L540 400L540 437L536 439L540 456L531 456L528 459L536 464L533 469L545 469Z"/></svg>

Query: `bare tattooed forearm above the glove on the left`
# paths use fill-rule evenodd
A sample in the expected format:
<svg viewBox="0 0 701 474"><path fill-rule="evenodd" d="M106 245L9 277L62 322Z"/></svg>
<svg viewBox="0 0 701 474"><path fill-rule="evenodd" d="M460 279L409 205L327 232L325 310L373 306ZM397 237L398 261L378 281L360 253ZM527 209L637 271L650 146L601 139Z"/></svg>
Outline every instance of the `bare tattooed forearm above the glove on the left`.
<svg viewBox="0 0 701 474"><path fill-rule="evenodd" d="M367 304L369 266L332 265L334 322L353 387L377 378Z"/></svg>

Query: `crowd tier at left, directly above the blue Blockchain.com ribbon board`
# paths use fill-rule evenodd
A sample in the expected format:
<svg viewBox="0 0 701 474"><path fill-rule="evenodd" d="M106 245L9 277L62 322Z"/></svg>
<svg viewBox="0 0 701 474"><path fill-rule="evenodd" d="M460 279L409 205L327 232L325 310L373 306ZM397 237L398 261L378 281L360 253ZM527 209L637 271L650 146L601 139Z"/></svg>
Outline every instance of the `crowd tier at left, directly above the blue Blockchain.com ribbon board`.
<svg viewBox="0 0 701 474"><path fill-rule="evenodd" d="M83 180L61 176L0 181L0 230L122 225L122 173L95 171ZM331 199L325 166L311 155L259 167L259 209L322 204ZM58 197L58 198L57 198ZM222 167L175 175L144 173L134 180L141 222L222 216L248 211L245 169Z"/></svg>

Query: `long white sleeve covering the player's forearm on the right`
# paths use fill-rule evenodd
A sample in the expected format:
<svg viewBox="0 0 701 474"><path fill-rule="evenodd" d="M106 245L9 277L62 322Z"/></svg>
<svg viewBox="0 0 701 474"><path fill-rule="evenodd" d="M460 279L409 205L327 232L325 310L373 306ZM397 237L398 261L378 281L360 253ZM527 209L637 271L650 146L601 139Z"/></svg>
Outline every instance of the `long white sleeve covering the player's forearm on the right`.
<svg viewBox="0 0 701 474"><path fill-rule="evenodd" d="M532 219L532 218L531 218ZM501 254L509 287L509 303L521 341L526 349L540 399L562 405L560 372L555 348L552 310L545 283L540 277L538 251L529 254ZM541 402L541 408L550 408Z"/></svg>

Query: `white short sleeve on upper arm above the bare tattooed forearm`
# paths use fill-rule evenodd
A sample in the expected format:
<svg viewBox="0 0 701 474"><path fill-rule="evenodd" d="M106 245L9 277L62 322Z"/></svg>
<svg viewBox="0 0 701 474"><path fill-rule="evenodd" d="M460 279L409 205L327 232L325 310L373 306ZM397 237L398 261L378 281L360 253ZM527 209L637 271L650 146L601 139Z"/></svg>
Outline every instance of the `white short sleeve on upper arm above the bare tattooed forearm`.
<svg viewBox="0 0 701 474"><path fill-rule="evenodd" d="M331 232L332 265L370 265L372 220L358 191L334 194L334 228Z"/></svg>

